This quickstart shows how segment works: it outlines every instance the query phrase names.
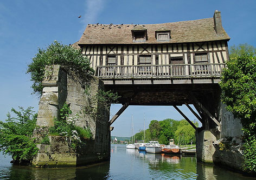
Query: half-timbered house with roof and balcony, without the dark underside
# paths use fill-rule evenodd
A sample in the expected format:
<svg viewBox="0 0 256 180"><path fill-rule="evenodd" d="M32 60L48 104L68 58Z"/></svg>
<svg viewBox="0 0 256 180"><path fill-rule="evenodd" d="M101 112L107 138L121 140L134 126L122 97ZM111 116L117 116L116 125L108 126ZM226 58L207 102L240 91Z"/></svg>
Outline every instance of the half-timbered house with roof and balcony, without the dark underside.
<svg viewBox="0 0 256 180"><path fill-rule="evenodd" d="M105 84L195 83L196 77L219 81L229 39L215 11L213 18L195 21L88 24L75 44Z"/></svg>

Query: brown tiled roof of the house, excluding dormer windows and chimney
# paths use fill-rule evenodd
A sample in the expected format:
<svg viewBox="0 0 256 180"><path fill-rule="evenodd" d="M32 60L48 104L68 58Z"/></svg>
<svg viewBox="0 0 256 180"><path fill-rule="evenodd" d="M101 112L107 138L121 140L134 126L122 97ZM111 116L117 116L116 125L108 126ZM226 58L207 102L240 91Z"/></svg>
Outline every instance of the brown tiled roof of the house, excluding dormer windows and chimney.
<svg viewBox="0 0 256 180"><path fill-rule="evenodd" d="M146 42L133 42L132 29L136 26L147 30ZM171 31L168 42L157 42L155 32L159 29ZM223 35L216 35L213 18L194 21L181 21L163 24L90 24L87 25L78 44L158 44L185 43L230 39L223 29Z"/></svg>

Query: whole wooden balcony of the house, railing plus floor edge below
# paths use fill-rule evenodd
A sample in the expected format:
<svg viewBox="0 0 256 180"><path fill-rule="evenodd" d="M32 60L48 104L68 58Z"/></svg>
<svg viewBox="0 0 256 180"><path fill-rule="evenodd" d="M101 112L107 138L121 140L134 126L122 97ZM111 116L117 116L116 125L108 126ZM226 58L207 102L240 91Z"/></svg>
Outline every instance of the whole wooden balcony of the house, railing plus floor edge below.
<svg viewBox="0 0 256 180"><path fill-rule="evenodd" d="M105 84L218 83L225 63L97 66Z"/></svg>

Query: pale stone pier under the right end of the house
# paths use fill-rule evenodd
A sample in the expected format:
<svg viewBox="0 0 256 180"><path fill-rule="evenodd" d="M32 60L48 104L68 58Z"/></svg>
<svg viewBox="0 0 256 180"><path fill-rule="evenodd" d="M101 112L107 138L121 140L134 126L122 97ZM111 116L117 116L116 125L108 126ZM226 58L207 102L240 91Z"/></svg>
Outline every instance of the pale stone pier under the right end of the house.
<svg viewBox="0 0 256 180"><path fill-rule="evenodd" d="M216 133L216 129L196 130L197 160L242 171L244 158L240 119L234 118L232 112L226 110L226 105L220 102L219 121L221 122L220 134Z"/></svg>

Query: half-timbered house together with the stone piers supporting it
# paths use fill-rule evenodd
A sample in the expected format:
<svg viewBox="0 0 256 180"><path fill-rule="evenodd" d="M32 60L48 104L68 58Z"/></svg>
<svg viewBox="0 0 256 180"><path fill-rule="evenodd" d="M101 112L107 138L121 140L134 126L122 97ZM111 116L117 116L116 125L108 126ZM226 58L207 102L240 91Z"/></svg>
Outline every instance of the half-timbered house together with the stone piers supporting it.
<svg viewBox="0 0 256 180"><path fill-rule="evenodd" d="M229 39L222 28L219 11L214 12L213 18L174 23L88 24L73 46L89 58L98 77L91 83L92 94L99 89L118 92L119 103L123 106L110 119L108 111L95 104L97 113L103 116L88 118L82 114L88 103L84 85L59 65L49 67L54 81L44 79L42 83L37 125L52 126L53 117L58 116L61 105L67 102L73 113L81 114L78 125L89 127L92 139L80 148L81 151L71 151L62 137L59 138L63 143L52 137L49 147L38 145L40 151L34 165L71 166L109 159L111 124L129 105L174 106L196 129L197 159L221 162L222 154L216 155L214 142L225 136L241 136L239 120L234 120L220 102L218 83L229 57ZM196 128L178 108L183 104L199 119L201 128ZM61 151L46 150L55 146ZM229 160L221 163L227 162Z"/></svg>

